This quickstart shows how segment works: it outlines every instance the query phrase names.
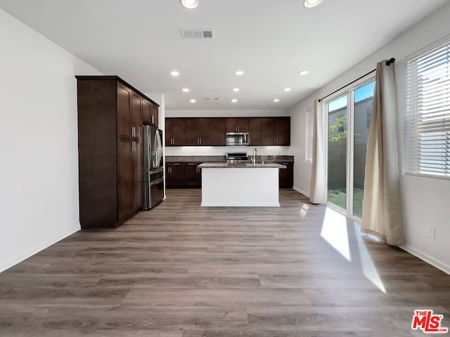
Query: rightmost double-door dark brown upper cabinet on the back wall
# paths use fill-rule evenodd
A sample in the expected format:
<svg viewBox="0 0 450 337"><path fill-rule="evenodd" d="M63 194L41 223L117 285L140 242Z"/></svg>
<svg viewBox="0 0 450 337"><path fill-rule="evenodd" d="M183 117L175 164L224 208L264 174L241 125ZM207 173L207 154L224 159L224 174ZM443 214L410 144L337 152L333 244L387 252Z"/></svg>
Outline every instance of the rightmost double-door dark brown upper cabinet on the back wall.
<svg viewBox="0 0 450 337"><path fill-rule="evenodd" d="M290 117L263 117L262 145L289 146Z"/></svg>

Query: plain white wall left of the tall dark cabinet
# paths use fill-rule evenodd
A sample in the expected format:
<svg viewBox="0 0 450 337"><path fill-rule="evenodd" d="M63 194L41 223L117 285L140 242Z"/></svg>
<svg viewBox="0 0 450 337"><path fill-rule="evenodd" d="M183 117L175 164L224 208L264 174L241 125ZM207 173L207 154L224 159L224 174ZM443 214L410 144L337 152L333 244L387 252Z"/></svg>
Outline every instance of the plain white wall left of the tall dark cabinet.
<svg viewBox="0 0 450 337"><path fill-rule="evenodd" d="M0 271L79 230L77 81L100 74L0 10Z"/></svg>

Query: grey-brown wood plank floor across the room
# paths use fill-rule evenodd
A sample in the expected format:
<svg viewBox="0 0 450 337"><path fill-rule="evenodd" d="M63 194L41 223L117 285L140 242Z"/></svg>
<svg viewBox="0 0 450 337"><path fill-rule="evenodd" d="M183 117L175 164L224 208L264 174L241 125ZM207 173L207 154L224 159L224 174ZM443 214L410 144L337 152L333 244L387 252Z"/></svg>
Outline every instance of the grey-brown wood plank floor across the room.
<svg viewBox="0 0 450 337"><path fill-rule="evenodd" d="M450 327L449 275L302 194L265 209L200 199L169 190L1 273L0 336L424 336L419 308Z"/></svg>

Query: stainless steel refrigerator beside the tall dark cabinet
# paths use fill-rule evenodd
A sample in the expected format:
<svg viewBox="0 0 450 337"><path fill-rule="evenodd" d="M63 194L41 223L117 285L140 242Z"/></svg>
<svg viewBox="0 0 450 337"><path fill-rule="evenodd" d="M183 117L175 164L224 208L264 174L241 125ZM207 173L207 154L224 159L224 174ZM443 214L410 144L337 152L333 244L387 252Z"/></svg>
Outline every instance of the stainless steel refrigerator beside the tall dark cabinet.
<svg viewBox="0 0 450 337"><path fill-rule="evenodd" d="M143 209L152 209L164 198L162 131L143 126Z"/></svg>

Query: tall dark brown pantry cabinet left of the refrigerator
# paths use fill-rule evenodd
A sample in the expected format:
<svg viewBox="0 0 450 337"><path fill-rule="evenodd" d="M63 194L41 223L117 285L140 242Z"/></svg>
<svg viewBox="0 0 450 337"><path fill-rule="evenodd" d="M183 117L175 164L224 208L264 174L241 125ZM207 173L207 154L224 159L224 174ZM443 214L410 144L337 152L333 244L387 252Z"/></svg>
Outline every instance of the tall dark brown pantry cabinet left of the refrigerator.
<svg viewBox="0 0 450 337"><path fill-rule="evenodd" d="M143 113L158 105L115 76L77 76L77 94L79 220L117 227L142 207Z"/></svg>

